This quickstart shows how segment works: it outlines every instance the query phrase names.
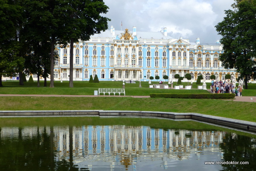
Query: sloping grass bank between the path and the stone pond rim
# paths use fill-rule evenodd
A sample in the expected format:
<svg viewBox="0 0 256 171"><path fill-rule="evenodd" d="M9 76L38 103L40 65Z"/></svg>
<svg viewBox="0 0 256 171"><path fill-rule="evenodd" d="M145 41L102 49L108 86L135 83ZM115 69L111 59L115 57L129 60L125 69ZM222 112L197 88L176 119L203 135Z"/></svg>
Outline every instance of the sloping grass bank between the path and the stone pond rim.
<svg viewBox="0 0 256 171"><path fill-rule="evenodd" d="M145 110L201 113L256 122L256 103L132 97L1 97L0 110Z"/></svg>

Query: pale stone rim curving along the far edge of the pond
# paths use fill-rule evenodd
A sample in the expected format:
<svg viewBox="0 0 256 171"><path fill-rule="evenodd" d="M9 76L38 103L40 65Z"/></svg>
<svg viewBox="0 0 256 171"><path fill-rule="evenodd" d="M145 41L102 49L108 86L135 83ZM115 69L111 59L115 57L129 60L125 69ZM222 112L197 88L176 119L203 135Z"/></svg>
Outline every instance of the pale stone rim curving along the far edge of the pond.
<svg viewBox="0 0 256 171"><path fill-rule="evenodd" d="M249 132L256 132L256 122L230 119L219 116L210 116L200 113L174 113L153 111L126 111L126 110L6 110L0 111L0 117L27 117L27 116L143 116L169 119L192 119L216 125L237 128Z"/></svg>

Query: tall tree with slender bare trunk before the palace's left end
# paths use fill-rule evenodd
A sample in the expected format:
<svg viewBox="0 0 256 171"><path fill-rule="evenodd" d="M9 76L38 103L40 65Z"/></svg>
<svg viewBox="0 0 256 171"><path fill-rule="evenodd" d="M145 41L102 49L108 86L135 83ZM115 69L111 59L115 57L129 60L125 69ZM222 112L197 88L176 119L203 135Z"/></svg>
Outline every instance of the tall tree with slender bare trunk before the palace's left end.
<svg viewBox="0 0 256 171"><path fill-rule="evenodd" d="M109 18L101 14L108 12L103 0L65 0L60 3L65 40L70 41L70 83L73 87L74 42L87 41L90 36L108 29Z"/></svg>

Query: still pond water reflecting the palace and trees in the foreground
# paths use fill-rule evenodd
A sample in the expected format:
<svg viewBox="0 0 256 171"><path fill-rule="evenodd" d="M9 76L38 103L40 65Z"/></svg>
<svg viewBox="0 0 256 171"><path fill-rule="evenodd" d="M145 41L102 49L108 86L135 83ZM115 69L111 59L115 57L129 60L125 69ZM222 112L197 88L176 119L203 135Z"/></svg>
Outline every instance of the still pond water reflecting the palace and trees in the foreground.
<svg viewBox="0 0 256 171"><path fill-rule="evenodd" d="M71 118L79 119L79 118ZM124 118L122 118L124 119ZM10 119L12 120L12 119ZM52 118L54 120L54 118ZM59 119L58 119L59 120ZM68 119L67 119L68 120ZM95 119L93 119L95 120ZM129 120L129 119L127 119ZM140 120L139 118L137 121ZM8 119L5 122L9 121ZM101 120L102 121L102 120ZM12 121L9 121L12 122ZM40 121L37 121L40 123ZM202 123L91 125L74 122L0 128L2 171L253 171L255 135ZM128 121L129 122L129 121ZM140 121L139 121L140 122ZM102 123L102 122L101 122ZM167 126L166 126L167 125ZM190 125L178 128L179 125ZM192 125L192 126L191 126ZM198 125L198 126L197 126ZM169 128L168 128L169 127ZM199 129L191 127L199 127ZM205 162L249 164L206 165Z"/></svg>

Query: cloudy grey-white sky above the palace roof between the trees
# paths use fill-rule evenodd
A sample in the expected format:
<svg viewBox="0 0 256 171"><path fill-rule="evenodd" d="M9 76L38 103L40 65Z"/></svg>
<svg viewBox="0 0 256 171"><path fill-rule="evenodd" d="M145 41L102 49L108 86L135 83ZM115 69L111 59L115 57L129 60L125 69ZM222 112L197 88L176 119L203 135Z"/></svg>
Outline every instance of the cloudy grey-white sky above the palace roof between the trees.
<svg viewBox="0 0 256 171"><path fill-rule="evenodd" d="M215 25L232 9L234 0L104 0L109 7L104 16L116 30L133 26L137 31L158 32L164 27L173 38L200 38L201 43L214 43L221 38Z"/></svg>

